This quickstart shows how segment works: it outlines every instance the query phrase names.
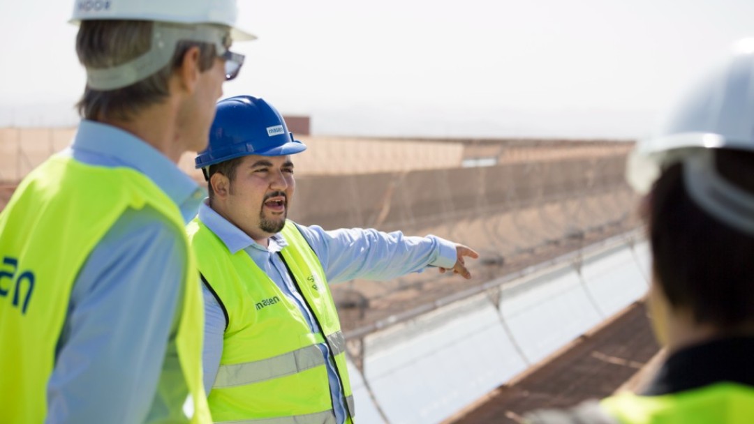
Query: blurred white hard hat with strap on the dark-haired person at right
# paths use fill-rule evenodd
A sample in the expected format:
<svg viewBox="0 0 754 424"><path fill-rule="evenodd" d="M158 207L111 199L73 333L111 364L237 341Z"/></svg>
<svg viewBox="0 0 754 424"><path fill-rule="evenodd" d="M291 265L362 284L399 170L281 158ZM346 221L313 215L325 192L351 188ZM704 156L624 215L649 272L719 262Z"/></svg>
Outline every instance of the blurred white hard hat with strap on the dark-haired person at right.
<svg viewBox="0 0 754 424"><path fill-rule="evenodd" d="M754 152L754 38L734 44L725 63L685 96L657 134L636 145L627 180L645 194L663 169L682 162L684 185L695 203L754 234L754 196L718 174L713 152L720 148Z"/></svg>

